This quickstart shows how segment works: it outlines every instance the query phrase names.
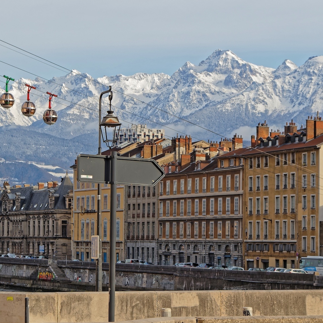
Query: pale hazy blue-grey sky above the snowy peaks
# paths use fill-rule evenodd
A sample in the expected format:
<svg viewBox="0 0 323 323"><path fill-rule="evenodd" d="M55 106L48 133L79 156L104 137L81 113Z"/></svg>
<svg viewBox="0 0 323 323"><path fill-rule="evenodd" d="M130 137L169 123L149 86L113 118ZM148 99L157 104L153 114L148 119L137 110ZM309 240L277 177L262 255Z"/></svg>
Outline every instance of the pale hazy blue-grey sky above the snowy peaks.
<svg viewBox="0 0 323 323"><path fill-rule="evenodd" d="M2 1L0 39L98 78L137 72L171 75L218 48L277 68L323 54L322 1ZM10 18L9 18L9 13ZM3 47L0 75L67 74ZM3 84L0 84L3 87Z"/></svg>

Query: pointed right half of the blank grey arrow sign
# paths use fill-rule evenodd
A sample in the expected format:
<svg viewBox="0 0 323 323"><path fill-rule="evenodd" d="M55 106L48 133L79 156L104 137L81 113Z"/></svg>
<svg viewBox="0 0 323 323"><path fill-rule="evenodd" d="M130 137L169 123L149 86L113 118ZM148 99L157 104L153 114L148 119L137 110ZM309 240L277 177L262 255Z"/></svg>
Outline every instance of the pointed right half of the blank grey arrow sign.
<svg viewBox="0 0 323 323"><path fill-rule="evenodd" d="M155 185L165 176L153 159L118 157L115 165L118 184Z"/></svg>

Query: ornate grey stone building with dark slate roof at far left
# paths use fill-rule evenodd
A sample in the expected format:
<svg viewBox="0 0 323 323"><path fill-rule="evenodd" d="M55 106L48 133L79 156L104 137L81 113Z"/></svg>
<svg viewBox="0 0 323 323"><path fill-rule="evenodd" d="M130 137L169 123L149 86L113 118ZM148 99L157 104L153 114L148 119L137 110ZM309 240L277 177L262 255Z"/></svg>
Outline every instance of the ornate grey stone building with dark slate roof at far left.
<svg viewBox="0 0 323 323"><path fill-rule="evenodd" d="M0 194L0 250L2 254L71 258L73 184L66 173L61 183L25 184Z"/></svg>

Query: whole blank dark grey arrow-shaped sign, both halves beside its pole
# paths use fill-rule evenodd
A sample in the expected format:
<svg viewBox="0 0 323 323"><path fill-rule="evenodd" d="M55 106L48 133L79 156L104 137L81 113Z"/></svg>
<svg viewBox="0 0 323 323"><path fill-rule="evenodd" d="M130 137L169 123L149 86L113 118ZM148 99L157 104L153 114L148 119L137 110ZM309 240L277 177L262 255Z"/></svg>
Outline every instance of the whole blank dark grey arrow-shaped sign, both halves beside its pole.
<svg viewBox="0 0 323 323"><path fill-rule="evenodd" d="M115 181L125 185L155 185L164 176L164 170L153 159L117 157ZM109 183L111 157L78 155L77 179L79 182Z"/></svg>

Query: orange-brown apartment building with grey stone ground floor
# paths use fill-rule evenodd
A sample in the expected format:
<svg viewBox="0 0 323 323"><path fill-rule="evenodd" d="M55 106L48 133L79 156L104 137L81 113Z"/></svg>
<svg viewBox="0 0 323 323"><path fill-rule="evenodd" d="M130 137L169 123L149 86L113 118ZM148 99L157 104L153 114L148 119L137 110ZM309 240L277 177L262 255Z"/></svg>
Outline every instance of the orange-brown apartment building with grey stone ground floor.
<svg viewBox="0 0 323 323"><path fill-rule="evenodd" d="M166 175L159 184L160 264L243 264L243 166L224 157L224 152L241 145L242 138L236 136L233 141L204 148L196 145L191 153L182 153L179 162L163 165Z"/></svg>

